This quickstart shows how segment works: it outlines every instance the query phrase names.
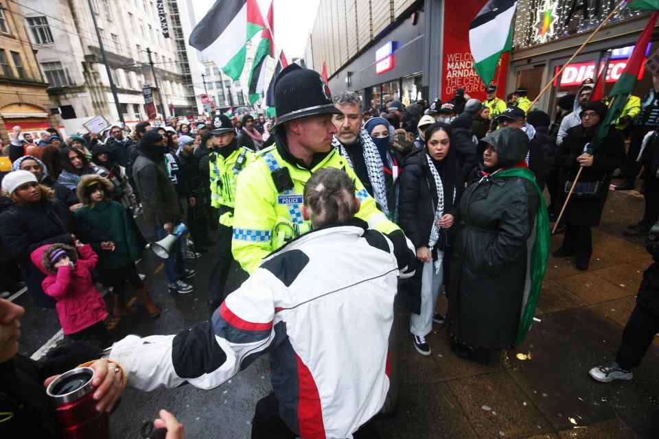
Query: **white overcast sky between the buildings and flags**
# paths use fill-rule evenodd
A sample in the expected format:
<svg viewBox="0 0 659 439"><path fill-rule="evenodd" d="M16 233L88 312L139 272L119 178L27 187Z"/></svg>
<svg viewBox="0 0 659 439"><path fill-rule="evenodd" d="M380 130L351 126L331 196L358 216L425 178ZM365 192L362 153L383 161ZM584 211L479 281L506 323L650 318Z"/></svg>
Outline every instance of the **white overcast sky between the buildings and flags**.
<svg viewBox="0 0 659 439"><path fill-rule="evenodd" d="M218 0L222 1L222 0ZM316 20L320 0L273 0L275 1L275 44L283 47L286 58L304 56L307 38ZM258 0L264 18L270 0ZM215 0L194 0L194 16L200 21Z"/></svg>

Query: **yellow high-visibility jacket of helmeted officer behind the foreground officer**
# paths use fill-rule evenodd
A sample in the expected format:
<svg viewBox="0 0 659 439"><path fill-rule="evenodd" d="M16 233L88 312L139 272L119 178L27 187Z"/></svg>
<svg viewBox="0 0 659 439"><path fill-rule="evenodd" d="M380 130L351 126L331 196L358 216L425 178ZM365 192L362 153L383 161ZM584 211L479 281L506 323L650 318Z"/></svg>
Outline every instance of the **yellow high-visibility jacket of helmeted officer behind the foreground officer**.
<svg viewBox="0 0 659 439"><path fill-rule="evenodd" d="M236 177L255 157L254 152L246 147L236 148L227 158L219 152L210 154L211 206L224 211L220 214L223 226L233 226Z"/></svg>

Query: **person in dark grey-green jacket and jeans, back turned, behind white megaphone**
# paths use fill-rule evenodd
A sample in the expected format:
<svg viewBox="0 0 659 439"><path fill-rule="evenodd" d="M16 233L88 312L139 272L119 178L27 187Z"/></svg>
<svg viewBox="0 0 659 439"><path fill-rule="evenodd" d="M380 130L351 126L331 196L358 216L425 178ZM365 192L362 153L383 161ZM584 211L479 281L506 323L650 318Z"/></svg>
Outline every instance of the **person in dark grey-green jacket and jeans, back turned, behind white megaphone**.
<svg viewBox="0 0 659 439"><path fill-rule="evenodd" d="M142 136L137 149L139 156L132 165L132 175L142 200L144 220L153 227L158 239L162 239L183 219L170 167L165 163L167 146L163 137L151 130ZM195 272L185 268L180 247L178 240L170 257L165 259L165 275L170 292L187 294L193 292L194 287L181 278L193 278Z"/></svg>

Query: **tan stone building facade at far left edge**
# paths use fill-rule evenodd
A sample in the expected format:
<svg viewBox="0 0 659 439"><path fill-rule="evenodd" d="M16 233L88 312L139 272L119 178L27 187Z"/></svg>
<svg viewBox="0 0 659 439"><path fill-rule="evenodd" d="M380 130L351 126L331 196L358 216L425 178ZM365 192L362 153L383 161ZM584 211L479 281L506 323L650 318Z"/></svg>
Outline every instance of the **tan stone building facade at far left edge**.
<svg viewBox="0 0 659 439"><path fill-rule="evenodd" d="M0 137L6 145L12 127L36 133L57 126L58 117L16 4L0 5Z"/></svg>

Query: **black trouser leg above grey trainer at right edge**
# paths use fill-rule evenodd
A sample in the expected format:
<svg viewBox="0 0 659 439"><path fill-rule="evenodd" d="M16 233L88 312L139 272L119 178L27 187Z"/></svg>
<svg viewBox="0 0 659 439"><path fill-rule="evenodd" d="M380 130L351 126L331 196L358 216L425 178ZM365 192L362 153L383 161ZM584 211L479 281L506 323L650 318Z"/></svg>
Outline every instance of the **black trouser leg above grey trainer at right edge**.
<svg viewBox="0 0 659 439"><path fill-rule="evenodd" d="M625 324L623 340L616 355L616 362L620 367L625 370L638 367L657 333L659 313L637 304Z"/></svg>

